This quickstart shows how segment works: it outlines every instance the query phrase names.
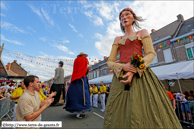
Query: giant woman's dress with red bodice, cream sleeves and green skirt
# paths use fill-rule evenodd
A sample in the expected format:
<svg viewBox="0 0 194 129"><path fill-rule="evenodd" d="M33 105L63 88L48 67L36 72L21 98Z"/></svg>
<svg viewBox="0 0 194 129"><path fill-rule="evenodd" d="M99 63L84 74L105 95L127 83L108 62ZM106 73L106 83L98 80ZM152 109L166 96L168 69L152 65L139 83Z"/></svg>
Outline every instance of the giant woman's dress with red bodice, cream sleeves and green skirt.
<svg viewBox="0 0 194 129"><path fill-rule="evenodd" d="M161 81L150 67L134 74L130 84L122 84L123 64L130 62L132 54L142 54L144 47L145 65L154 59L150 36L132 36L113 44L108 65L114 70L109 97L106 104L104 129L181 129L170 99ZM117 52L120 61L115 63Z"/></svg>

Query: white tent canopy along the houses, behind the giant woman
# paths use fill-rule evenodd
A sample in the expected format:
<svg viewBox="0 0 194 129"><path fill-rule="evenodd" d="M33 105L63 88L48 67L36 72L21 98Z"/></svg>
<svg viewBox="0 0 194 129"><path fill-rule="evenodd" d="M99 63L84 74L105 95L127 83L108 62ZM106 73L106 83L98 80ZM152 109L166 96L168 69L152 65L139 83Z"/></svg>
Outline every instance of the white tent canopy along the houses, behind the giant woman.
<svg viewBox="0 0 194 129"><path fill-rule="evenodd" d="M194 79L194 60L151 68L160 80ZM178 75L178 76L177 76ZM113 74L89 80L90 84L111 83Z"/></svg>

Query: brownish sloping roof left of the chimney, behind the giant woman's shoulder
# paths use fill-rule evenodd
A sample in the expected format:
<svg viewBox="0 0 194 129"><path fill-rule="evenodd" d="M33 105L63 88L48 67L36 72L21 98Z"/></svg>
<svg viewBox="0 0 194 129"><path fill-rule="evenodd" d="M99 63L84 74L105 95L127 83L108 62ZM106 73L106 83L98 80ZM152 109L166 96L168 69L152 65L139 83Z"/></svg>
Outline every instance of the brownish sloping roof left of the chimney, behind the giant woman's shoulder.
<svg viewBox="0 0 194 129"><path fill-rule="evenodd" d="M176 20L176 21L162 27L161 29L155 31L154 33L151 34L152 41L154 42L154 41L157 41L157 40L162 39L164 37L174 35L176 33L180 23L181 23L181 20Z"/></svg>

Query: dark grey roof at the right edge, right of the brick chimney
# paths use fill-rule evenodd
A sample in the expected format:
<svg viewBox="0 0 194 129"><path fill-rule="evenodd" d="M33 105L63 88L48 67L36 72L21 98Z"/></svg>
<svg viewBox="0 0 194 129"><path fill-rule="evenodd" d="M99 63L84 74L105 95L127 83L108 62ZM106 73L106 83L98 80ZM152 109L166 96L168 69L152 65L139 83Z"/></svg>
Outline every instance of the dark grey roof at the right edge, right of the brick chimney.
<svg viewBox="0 0 194 129"><path fill-rule="evenodd" d="M184 21L176 37L189 33L194 29L194 17Z"/></svg>

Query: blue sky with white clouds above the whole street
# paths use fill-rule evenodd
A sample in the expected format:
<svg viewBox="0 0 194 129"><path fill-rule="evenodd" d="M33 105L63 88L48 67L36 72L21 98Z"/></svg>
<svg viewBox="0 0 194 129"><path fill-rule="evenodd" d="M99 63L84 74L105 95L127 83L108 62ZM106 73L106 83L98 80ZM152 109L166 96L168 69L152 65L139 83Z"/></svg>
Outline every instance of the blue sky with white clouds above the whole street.
<svg viewBox="0 0 194 129"><path fill-rule="evenodd" d="M175 21L178 14L192 17L192 5L192 1L1 1L1 44L21 54L16 58L16 53L5 52L2 59L4 64L17 59L44 81L54 76L54 68L47 65L57 67L57 61L26 55L75 59L85 52L95 61L109 56L114 38L123 35L118 20L123 8L131 7L145 18L142 28L151 32ZM65 61L65 75L72 73L72 65L73 61Z"/></svg>

